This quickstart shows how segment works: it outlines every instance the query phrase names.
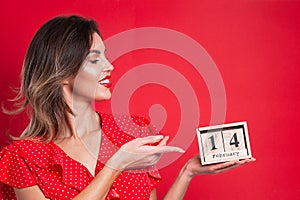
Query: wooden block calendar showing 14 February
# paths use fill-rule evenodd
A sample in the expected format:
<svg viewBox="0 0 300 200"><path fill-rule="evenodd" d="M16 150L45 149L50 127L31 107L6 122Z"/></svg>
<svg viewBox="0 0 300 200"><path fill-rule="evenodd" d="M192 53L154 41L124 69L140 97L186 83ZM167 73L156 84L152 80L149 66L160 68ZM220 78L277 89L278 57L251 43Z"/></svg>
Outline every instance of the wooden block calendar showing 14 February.
<svg viewBox="0 0 300 200"><path fill-rule="evenodd" d="M251 158L246 122L197 129L202 165Z"/></svg>

